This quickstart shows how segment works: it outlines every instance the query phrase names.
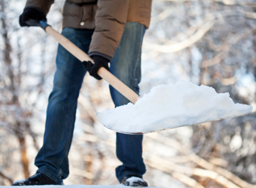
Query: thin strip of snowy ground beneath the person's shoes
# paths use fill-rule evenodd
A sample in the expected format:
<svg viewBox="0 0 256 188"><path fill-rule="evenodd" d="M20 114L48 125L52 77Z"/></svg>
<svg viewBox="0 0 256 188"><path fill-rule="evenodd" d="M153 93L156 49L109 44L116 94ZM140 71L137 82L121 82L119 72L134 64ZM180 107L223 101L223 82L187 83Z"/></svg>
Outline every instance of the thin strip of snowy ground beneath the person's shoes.
<svg viewBox="0 0 256 188"><path fill-rule="evenodd" d="M0 186L1 187L1 186ZM12 186L3 186L4 188L13 188ZM19 188L28 186L19 186ZM29 186L31 187L31 186ZM125 185L33 185L33 188L128 188ZM157 188L157 187L148 187Z"/></svg>

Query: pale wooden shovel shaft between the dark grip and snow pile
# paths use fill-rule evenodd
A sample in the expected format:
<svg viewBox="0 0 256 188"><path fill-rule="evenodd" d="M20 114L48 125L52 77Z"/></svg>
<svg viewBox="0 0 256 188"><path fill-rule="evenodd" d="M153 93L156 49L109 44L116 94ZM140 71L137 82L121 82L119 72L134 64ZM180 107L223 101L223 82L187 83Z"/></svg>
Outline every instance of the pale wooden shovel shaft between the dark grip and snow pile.
<svg viewBox="0 0 256 188"><path fill-rule="evenodd" d="M73 54L76 58L78 58L81 62L83 61L91 61L94 63L93 59L89 57L83 50L74 45L71 41L69 41L66 37L59 34L57 31L52 29L52 27L47 26L45 31L51 35L56 41L59 42L61 46L63 46L66 50L68 50L71 54ZM133 104L140 98L140 96L135 93L132 89L130 89L127 85L121 82L117 77L111 74L107 69L101 67L98 71L98 75L106 80L111 86L113 86L117 91L119 91L123 96L125 96L129 101Z"/></svg>

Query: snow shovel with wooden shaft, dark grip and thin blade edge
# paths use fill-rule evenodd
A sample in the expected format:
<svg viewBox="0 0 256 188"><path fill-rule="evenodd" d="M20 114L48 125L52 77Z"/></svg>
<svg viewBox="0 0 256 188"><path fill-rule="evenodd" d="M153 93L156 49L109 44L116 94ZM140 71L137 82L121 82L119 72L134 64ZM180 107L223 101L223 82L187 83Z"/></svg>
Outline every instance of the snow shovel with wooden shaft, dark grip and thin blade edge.
<svg viewBox="0 0 256 188"><path fill-rule="evenodd" d="M93 59L90 58L84 51L82 51L80 48L75 46L71 41L69 41L63 35L61 35L57 31L55 31L54 29L52 29L52 27L50 25L48 25L45 21L38 21L38 20L30 19L30 20L26 21L26 23L30 26L39 26L39 27L43 28L46 33L51 35L55 40L57 40L59 42L59 44L61 46L63 46L66 50L68 50L71 54L73 54L81 62L91 61L92 63L94 63ZM104 80L106 80L111 86L113 86L117 91L119 91L123 96L125 96L133 104L135 104L136 101L141 98L138 94L136 94L132 89L130 89L128 86L126 86L123 82L121 82L117 77L115 77L113 74L111 74L104 67L101 67L99 69L98 75L100 77L102 77ZM246 113L246 114L250 114L250 113ZM242 115L246 115L246 114L242 114ZM102 121L103 121L102 113L96 113L96 115L97 115L99 121L102 123ZM238 116L241 116L241 115L238 115ZM237 117L237 116L233 116L233 117ZM228 117L228 118L231 118L231 117ZM226 118L221 118L221 119L226 119ZM211 121L216 121L216 120L221 120L221 119L215 119L215 120L211 120ZM205 122L209 122L209 121L204 121L204 122L199 122L199 123L205 123ZM199 124L199 123L196 123L196 124ZM190 124L190 125L196 125L196 124ZM157 131L173 129L173 128L177 128L177 127L190 126L190 125L186 124L186 125L182 125L182 126L175 126L172 128L166 128L166 129L160 129L160 130L155 130L157 128L153 128L153 131L151 130L151 131L143 132L143 133L142 132L139 132L139 133L121 132L121 131L110 129L106 125L104 125L104 126L112 131L116 131L116 132L123 133L123 134L142 135L145 133L152 133L152 132L157 132Z"/></svg>

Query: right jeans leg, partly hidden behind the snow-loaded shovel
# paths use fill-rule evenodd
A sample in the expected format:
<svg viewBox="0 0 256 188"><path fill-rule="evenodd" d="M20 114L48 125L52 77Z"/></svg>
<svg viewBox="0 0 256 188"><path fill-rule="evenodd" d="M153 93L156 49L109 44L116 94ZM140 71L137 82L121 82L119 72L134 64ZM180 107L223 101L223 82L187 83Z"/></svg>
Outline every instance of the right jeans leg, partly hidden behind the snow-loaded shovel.
<svg viewBox="0 0 256 188"><path fill-rule="evenodd" d="M141 79L141 45L145 33L145 26L137 22L128 22L113 61L110 72L125 83L137 94ZM121 106L130 101L110 86L111 97L115 106ZM127 175L142 177L146 168L142 159L142 135L125 135L117 133L116 154L123 165L116 168L119 181Z"/></svg>

